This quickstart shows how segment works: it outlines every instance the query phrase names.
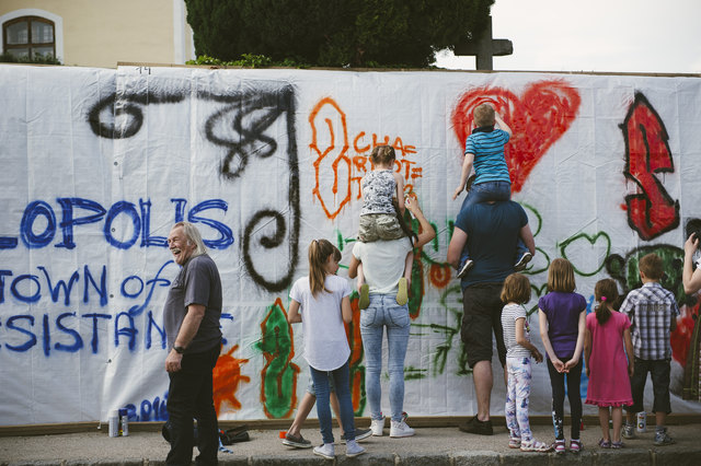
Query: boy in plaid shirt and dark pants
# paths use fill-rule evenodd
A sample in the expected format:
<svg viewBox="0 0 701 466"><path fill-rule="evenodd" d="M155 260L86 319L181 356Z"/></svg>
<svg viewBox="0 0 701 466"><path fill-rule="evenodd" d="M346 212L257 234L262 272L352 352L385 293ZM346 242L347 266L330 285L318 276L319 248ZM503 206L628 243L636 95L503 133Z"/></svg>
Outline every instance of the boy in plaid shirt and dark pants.
<svg viewBox="0 0 701 466"><path fill-rule="evenodd" d="M665 421L671 412L669 404L669 362L671 345L669 334L677 328L679 307L675 295L665 290L659 280L663 277L662 258L652 253L643 256L637 264L643 286L632 290L621 304L620 312L631 321L635 371L631 376L633 406L625 407L627 419L623 436L635 436L634 416L643 411L643 391L647 372L653 381L655 400L655 445L669 445L675 441L667 435Z"/></svg>

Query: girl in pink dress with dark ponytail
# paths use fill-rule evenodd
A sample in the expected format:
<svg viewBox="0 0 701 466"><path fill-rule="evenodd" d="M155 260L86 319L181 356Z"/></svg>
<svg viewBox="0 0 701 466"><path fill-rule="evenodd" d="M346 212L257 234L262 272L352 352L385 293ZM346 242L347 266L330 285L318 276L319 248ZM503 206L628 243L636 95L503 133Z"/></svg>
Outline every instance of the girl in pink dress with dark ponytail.
<svg viewBox="0 0 701 466"><path fill-rule="evenodd" d="M633 375L633 343L628 316L612 308L618 288L610 278L597 281L594 296L598 305L587 315L584 356L589 385L587 405L599 407L599 423L604 436L601 448L620 448L623 406L633 404L630 376ZM625 346L625 351L623 351ZM627 358L627 354L629 357ZM609 407L613 432L609 436Z"/></svg>

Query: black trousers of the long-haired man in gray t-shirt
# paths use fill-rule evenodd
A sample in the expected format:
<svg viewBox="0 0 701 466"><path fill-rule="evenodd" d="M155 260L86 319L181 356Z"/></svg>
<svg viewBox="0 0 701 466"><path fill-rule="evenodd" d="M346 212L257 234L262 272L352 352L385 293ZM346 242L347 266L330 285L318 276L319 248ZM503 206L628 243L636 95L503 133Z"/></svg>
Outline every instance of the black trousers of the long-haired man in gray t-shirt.
<svg viewBox="0 0 701 466"><path fill-rule="evenodd" d="M189 465L193 458L193 418L197 419L197 465L216 465L219 428L212 400L211 371L220 345L194 354L185 353L179 372L171 372L168 391L171 450L166 465Z"/></svg>

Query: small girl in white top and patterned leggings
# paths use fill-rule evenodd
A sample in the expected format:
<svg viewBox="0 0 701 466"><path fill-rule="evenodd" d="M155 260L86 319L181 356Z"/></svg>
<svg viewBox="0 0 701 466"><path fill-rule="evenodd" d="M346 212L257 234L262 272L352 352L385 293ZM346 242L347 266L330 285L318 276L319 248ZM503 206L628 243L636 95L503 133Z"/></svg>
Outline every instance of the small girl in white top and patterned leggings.
<svg viewBox="0 0 701 466"><path fill-rule="evenodd" d="M524 303L530 300L530 282L521 273L506 277L502 289L502 328L506 346L506 426L509 431L508 446L521 452L549 452L550 445L533 439L528 420L528 398L530 396L530 358L536 362L542 354L530 342L530 329Z"/></svg>

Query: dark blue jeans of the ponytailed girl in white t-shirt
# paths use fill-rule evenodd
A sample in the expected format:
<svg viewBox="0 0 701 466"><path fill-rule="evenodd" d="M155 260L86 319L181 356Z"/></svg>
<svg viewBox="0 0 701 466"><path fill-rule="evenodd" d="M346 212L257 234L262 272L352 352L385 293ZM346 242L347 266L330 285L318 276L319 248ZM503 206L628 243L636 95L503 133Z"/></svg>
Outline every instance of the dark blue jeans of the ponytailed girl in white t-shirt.
<svg viewBox="0 0 701 466"><path fill-rule="evenodd" d="M333 443L333 431L331 424L331 406L329 405L329 396L331 388L330 380L336 388L338 405L341 406L341 423L346 440L355 439L355 420L353 419L353 400L350 399L350 383L348 375L348 362L346 361L341 368L333 371L318 371L311 365L311 380L314 383L314 392L317 394L317 417L319 417L319 426L321 428L321 438L324 443Z"/></svg>

